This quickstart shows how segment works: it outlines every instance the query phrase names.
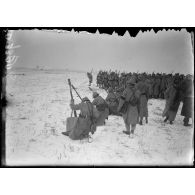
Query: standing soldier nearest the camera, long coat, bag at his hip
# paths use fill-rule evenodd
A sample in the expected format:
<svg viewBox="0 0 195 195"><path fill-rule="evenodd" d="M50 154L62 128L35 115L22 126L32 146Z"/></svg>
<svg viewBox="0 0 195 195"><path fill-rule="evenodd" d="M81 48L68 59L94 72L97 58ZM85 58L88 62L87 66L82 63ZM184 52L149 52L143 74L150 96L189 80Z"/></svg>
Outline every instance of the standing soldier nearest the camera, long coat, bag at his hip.
<svg viewBox="0 0 195 195"><path fill-rule="evenodd" d="M136 124L138 123L138 100L139 91L135 88L135 80L130 79L127 81L127 87L121 96L118 111L120 112L123 105L126 106L126 111L122 113L125 123L126 131L123 133L129 135L131 138L134 135ZM124 104L124 102L126 102ZM131 126L131 127L130 127Z"/></svg>

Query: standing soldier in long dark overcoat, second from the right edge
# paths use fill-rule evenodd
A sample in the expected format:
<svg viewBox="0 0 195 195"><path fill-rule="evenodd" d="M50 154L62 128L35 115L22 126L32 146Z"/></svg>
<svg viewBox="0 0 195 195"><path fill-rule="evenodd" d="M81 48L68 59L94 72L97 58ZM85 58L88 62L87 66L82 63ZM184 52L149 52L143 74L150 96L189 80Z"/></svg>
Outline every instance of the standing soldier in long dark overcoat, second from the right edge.
<svg viewBox="0 0 195 195"><path fill-rule="evenodd" d="M180 105L180 88L179 88L179 80L174 80L174 83L168 87L165 91L165 109L163 111L163 117L166 117L164 122L169 120L170 124L173 124L175 120L179 105Z"/></svg>

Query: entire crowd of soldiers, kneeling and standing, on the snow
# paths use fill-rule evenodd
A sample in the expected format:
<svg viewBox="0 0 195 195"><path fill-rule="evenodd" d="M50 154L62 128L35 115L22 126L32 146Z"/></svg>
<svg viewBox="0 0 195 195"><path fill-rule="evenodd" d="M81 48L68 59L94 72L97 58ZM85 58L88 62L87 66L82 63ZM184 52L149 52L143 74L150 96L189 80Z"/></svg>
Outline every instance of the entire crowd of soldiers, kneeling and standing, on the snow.
<svg viewBox="0 0 195 195"><path fill-rule="evenodd" d="M89 80L91 84L91 80ZM193 118L194 79L192 75L180 74L146 74L146 73L117 73L100 71L97 75L97 85L107 91L104 99L93 91L93 101L88 97L80 104L71 101L72 110L80 110L76 130L72 131L87 137L94 133L97 126L105 125L109 115L122 116L125 123L123 133L134 136L136 125L143 125L143 119L148 123L149 98L165 99L162 117L164 122L173 124L180 102L183 102L181 115L184 116L184 126L190 126L189 119ZM78 122L78 121L77 121ZM81 133L81 134L80 134ZM69 132L67 133L69 135ZM76 137L76 138L75 138ZM80 136L74 136L75 139Z"/></svg>

